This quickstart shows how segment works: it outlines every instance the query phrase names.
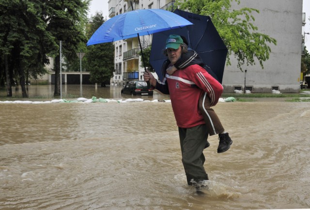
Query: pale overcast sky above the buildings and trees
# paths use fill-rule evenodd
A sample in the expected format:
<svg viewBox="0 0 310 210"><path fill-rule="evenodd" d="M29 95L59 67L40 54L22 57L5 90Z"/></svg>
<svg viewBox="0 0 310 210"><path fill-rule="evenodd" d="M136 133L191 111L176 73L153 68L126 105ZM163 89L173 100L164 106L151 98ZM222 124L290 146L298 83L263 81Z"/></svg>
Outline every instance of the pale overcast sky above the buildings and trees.
<svg viewBox="0 0 310 210"><path fill-rule="evenodd" d="M92 0L90 6L89 16L94 15L97 11L102 12L105 18L109 19L109 0ZM306 13L306 26L305 32L310 33L310 0L303 0L303 9L302 11ZM306 34L306 43L308 51L310 50L310 34Z"/></svg>

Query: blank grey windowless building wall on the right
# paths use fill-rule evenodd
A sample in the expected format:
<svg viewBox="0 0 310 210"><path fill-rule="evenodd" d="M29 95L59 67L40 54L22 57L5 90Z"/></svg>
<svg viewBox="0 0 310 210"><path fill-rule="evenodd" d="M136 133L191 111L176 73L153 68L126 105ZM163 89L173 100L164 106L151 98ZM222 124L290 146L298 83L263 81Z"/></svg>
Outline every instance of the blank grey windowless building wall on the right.
<svg viewBox="0 0 310 210"><path fill-rule="evenodd" d="M272 87L279 87L281 92L298 92L300 89L302 0L241 0L233 3L233 8L250 7L260 11L254 13L254 24L258 32L277 40L277 45L270 44L269 60L247 69L246 86L254 92L271 92ZM244 90L245 73L237 68L237 62L231 57L231 66L226 66L223 77L225 92L232 92L235 86Z"/></svg>

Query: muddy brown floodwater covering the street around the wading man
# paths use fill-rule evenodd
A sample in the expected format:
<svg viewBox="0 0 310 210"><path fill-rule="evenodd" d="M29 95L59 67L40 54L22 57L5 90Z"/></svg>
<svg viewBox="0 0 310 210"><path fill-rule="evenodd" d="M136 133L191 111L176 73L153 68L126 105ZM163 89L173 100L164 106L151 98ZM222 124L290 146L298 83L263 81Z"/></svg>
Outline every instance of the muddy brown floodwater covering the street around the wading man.
<svg viewBox="0 0 310 210"><path fill-rule="evenodd" d="M107 90L92 95L131 97ZM217 136L209 137L209 191L197 195L186 183L171 103L0 103L0 209L310 208L310 103L215 110L233 145L217 153Z"/></svg>

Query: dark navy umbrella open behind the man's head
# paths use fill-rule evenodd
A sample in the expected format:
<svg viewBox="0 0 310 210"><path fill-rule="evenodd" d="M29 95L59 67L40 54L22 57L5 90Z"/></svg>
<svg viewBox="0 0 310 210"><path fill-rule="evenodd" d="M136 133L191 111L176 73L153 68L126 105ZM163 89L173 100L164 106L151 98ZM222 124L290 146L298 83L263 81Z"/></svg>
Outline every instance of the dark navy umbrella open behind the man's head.
<svg viewBox="0 0 310 210"><path fill-rule="evenodd" d="M178 14L194 25L189 25L181 29L162 31L153 35L150 63L155 69L159 79L164 75L161 72L161 66L167 59L162 51L165 48L166 39L170 34L181 35L186 38L188 47L195 50L205 64L207 64L214 74L215 78L222 83L223 72L226 62L227 47L218 35L211 18L209 16L188 13L182 10L175 10Z"/></svg>

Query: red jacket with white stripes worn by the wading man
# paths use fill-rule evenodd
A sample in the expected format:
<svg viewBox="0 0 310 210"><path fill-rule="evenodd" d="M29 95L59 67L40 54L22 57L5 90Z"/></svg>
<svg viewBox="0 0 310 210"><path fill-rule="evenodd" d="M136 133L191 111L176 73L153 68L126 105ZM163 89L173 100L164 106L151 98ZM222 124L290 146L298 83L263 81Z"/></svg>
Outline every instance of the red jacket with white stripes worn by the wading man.
<svg viewBox="0 0 310 210"><path fill-rule="evenodd" d="M187 66L173 75L166 74L162 82L157 81L155 89L170 94L175 120L181 128L205 124L198 107L199 98L206 92L213 106L223 92L223 86L198 64Z"/></svg>

